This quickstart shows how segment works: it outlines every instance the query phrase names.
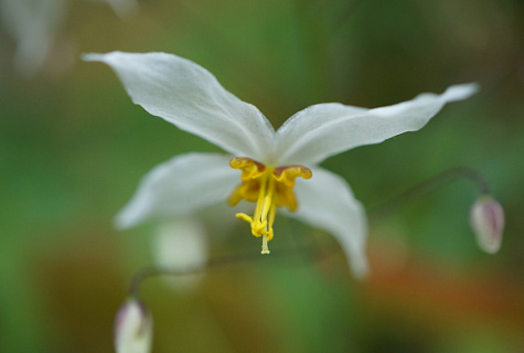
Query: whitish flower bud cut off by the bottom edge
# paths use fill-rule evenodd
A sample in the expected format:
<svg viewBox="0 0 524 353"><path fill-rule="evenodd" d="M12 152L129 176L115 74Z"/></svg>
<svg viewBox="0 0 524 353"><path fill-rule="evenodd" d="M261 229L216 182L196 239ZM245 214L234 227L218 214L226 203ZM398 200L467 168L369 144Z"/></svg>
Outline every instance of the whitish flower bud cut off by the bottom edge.
<svg viewBox="0 0 524 353"><path fill-rule="evenodd" d="M116 352L151 352L152 327L148 309L139 300L129 298L118 310L115 320Z"/></svg>

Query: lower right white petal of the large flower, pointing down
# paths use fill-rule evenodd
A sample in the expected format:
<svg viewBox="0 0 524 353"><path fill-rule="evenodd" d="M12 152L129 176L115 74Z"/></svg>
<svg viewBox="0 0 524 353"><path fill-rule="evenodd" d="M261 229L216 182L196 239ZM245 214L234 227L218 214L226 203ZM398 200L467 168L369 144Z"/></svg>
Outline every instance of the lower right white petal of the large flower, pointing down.
<svg viewBox="0 0 524 353"><path fill-rule="evenodd" d="M341 176L324 169L312 170L310 180L297 180L298 210L290 216L331 233L340 243L353 274L367 274L367 221L362 204Z"/></svg>

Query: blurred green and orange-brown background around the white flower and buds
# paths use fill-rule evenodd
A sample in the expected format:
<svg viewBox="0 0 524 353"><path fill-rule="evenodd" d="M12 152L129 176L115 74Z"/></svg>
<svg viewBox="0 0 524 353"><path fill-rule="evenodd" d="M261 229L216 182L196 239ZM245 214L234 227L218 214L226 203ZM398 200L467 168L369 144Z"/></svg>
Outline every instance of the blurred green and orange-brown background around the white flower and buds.
<svg viewBox="0 0 524 353"><path fill-rule="evenodd" d="M211 268L199 286L145 282L153 352L524 352L524 6L521 0L142 0L133 18L69 1L33 78L0 32L0 351L111 352L132 274L153 261L154 224L113 216L153 165L218 151L133 105L82 52L162 51L208 68L278 127L317 103L377 107L478 82L428 126L332 157L372 208L452 167L480 171L506 211L486 255L468 224L469 181L372 220L372 275L341 252ZM331 236L277 221L271 250ZM244 224L210 233L211 255L257 256ZM216 233L216 234L215 234Z"/></svg>

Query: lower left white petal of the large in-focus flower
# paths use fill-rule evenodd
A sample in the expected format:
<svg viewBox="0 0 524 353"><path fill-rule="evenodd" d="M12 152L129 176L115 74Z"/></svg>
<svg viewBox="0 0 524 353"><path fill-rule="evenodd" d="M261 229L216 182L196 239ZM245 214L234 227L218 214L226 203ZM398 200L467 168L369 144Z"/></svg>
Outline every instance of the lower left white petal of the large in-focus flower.
<svg viewBox="0 0 524 353"><path fill-rule="evenodd" d="M188 216L225 203L239 182L229 160L229 156L218 153L186 153L157 165L116 216L116 226L128 228L150 218Z"/></svg>

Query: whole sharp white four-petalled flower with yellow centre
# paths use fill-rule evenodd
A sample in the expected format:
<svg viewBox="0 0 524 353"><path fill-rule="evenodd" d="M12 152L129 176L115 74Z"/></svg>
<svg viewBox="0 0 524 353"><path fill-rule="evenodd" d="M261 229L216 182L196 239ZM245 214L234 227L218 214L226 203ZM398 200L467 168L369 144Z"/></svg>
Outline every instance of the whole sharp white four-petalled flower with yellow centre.
<svg viewBox="0 0 524 353"><path fill-rule="evenodd" d="M135 104L229 154L185 153L156 167L117 215L120 228L162 217L188 217L216 203L256 203L237 213L261 237L263 254L277 210L331 233L356 276L365 275L367 222L341 176L318 167L328 157L420 129L447 103L477 92L475 84L421 94L366 109L339 103L310 106L275 130L253 105L224 89L205 68L165 53L86 54L109 65Z"/></svg>

